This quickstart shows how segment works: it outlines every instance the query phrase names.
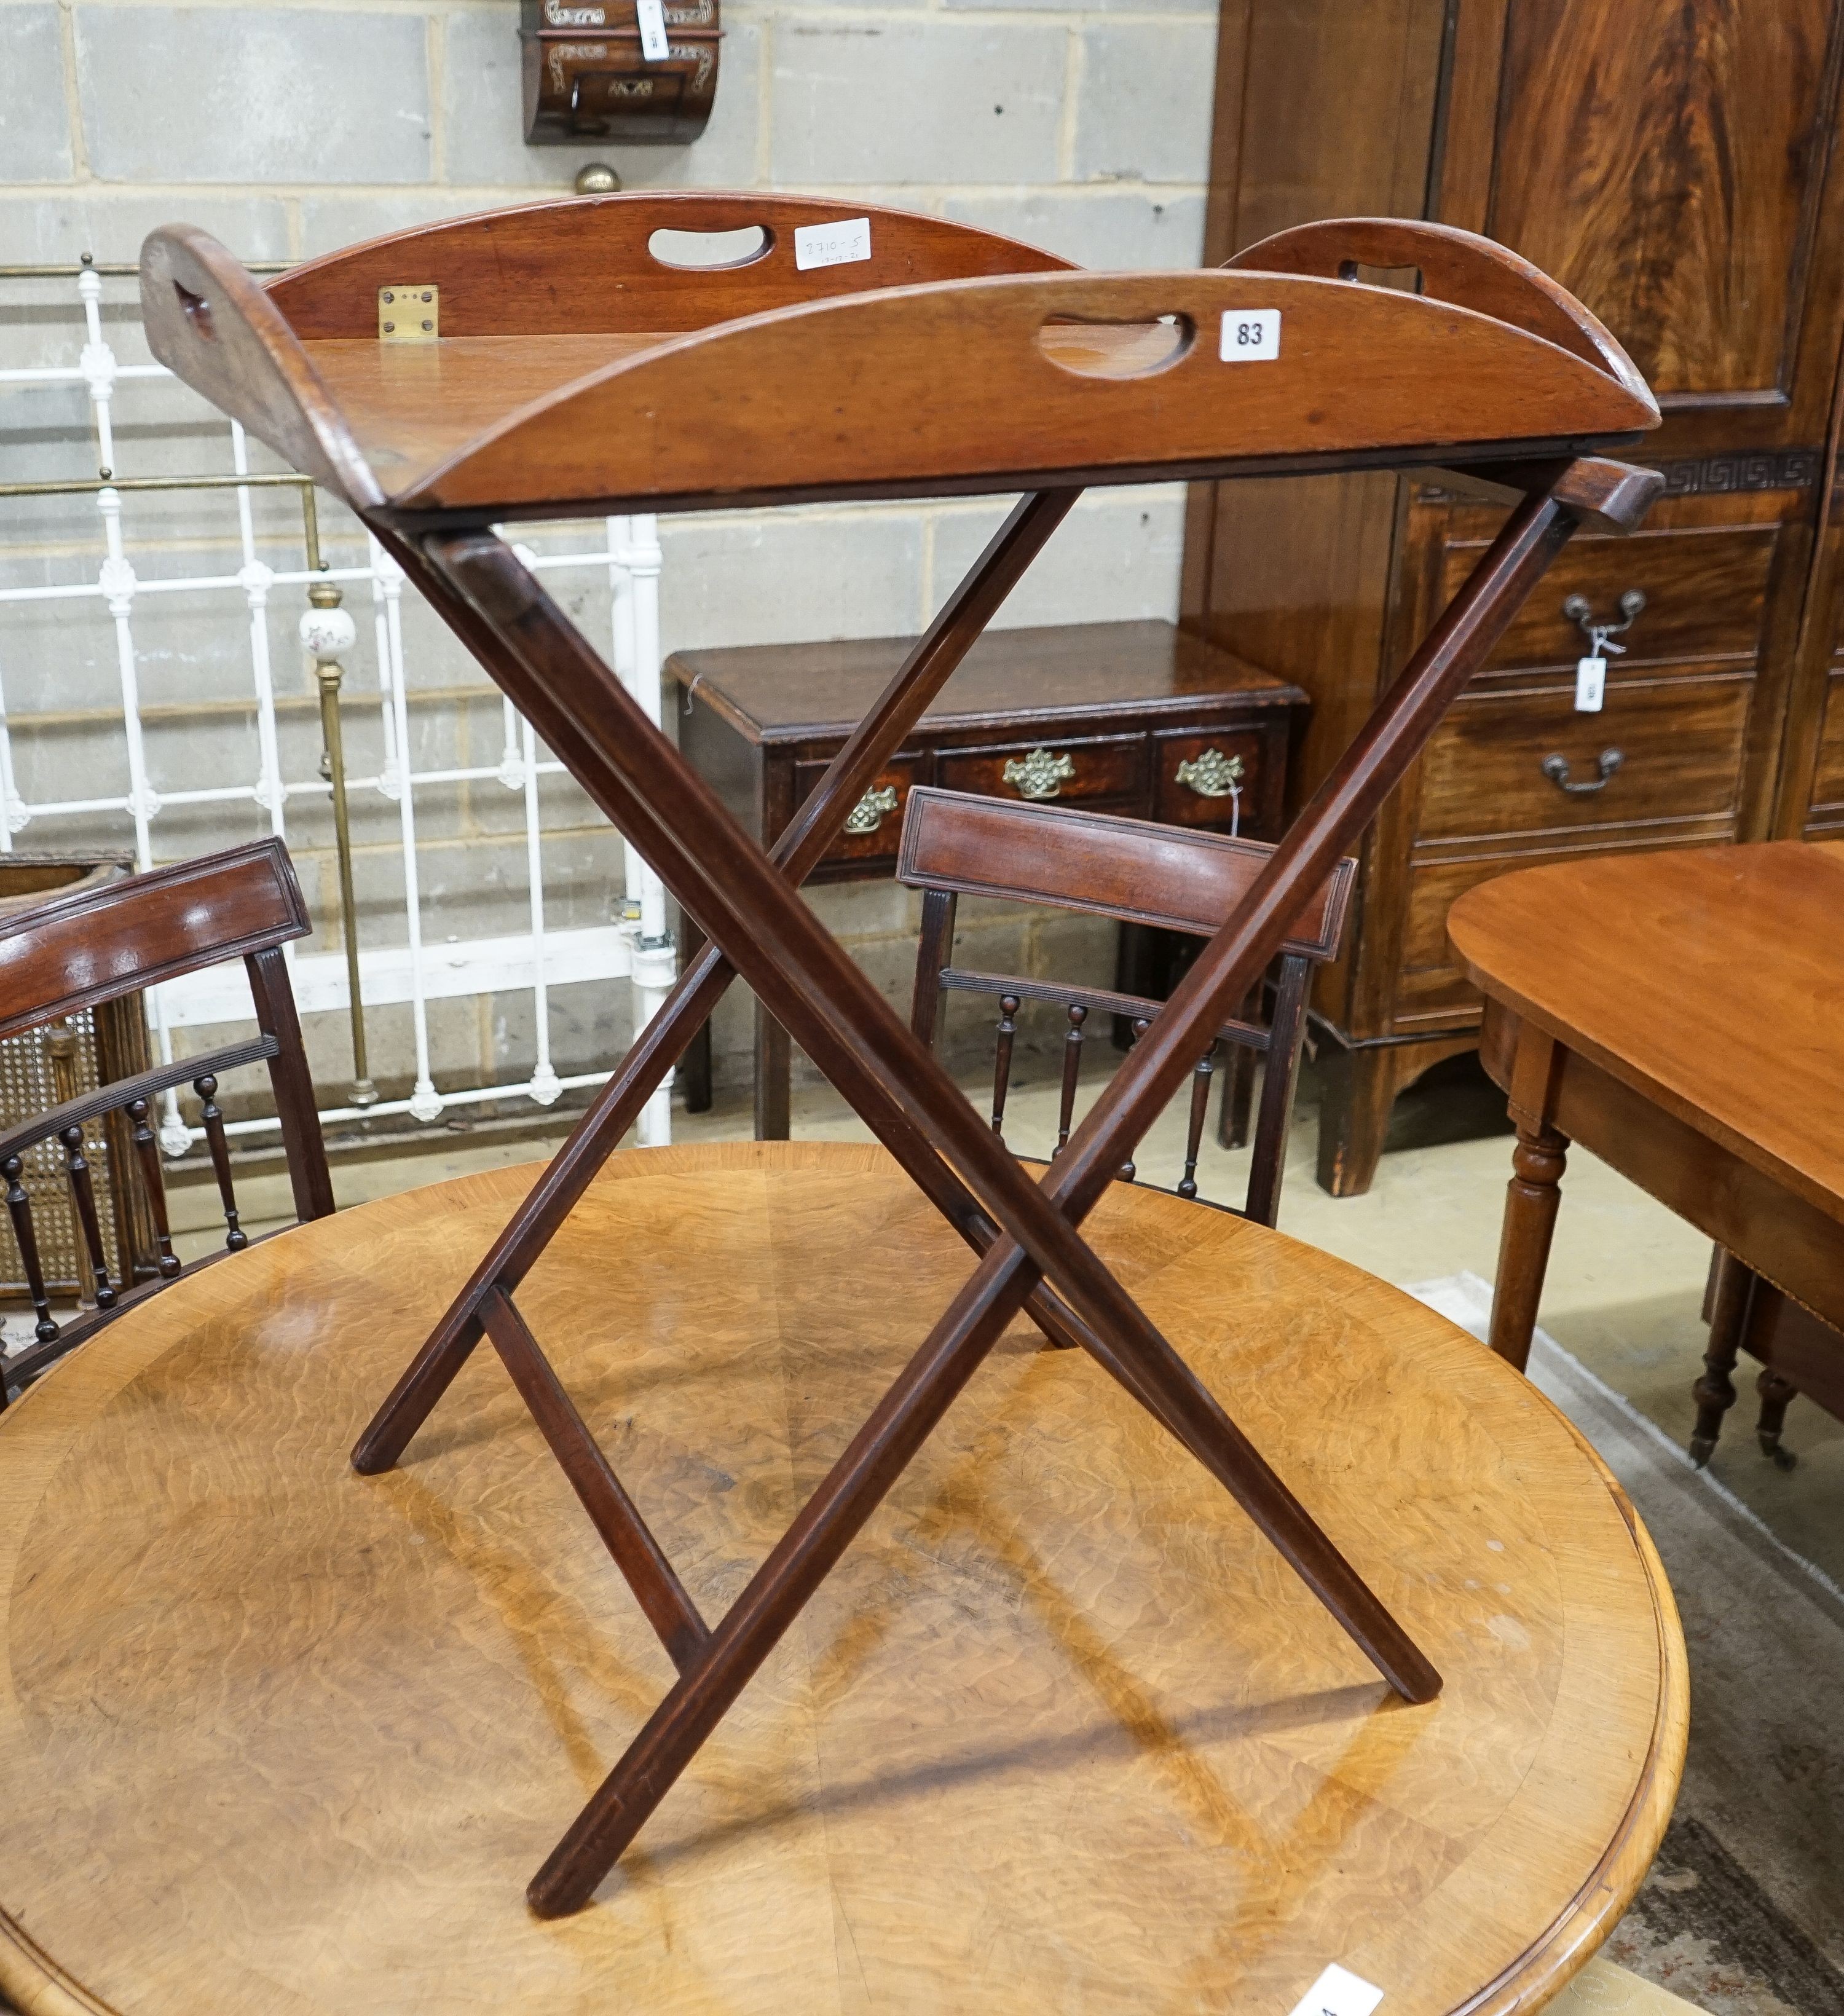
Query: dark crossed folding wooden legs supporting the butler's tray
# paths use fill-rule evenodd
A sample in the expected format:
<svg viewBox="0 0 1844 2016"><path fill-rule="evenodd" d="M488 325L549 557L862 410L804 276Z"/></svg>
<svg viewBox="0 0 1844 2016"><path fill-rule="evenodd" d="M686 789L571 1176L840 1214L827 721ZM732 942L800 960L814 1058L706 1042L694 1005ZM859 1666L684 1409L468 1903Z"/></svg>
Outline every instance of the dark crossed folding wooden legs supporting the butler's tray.
<svg viewBox="0 0 1844 2016"><path fill-rule="evenodd" d="M842 816L863 790L859 776L840 768L844 756L828 776L828 784L836 784L832 798L822 806L810 800L796 827L798 837L790 837L780 851L778 867L734 827L695 774L627 702L613 673L498 538L431 534L421 554L399 548L449 623L603 810L647 853L713 941L655 1018L639 1046L645 1054L631 1056L629 1068L615 1081L623 1091L611 1085L599 1101L597 1123L586 1121L578 1129L552 1175L540 1183L544 1195L534 1193L498 1242L500 1264L494 1266L490 1256L482 1266L355 1452L361 1468L385 1468L484 1325L679 1665L679 1681L532 1881L530 1901L540 1915L576 1909L590 1897L998 1335L1040 1296L1046 1274L1064 1298L1036 1302L1040 1320L1048 1318L1046 1329L1064 1329L1074 1343L1090 1349L1207 1462L1399 1693L1431 1699L1439 1689L1439 1675L1427 1659L1159 1337L1076 1226L1189 1075L1201 1042L1262 974L1304 893L1374 816L1449 700L1574 530L1582 506L1564 492L1580 468L1550 472L1548 488L1511 514L1397 687L1270 861L1243 909L1199 956L1151 1034L1070 1137L1042 1187L1012 1161L794 893L794 879L806 873L830 839L826 818L834 812ZM1586 488L1594 490L1592 484ZM1034 506L1048 508L1044 500L1020 506L996 548L1014 534L1022 550L1026 528L1042 522L1032 520ZM1042 536L1036 542L1042 544ZM987 571L987 562L996 562L994 548L975 577ZM996 562L994 579L998 573ZM925 647L927 639L919 649ZM861 746L867 778L925 706L923 698L907 720L901 718L907 704L897 694L901 683L899 677L879 704L881 728L895 726L895 736L883 750L871 738ZM822 794L824 786L816 798ZM645 1099L709 1012L730 978L717 946L949 1222L969 1244L983 1248L983 1258L744 1595L715 1631L701 1637L703 1621L544 1365L506 1288L514 1266L518 1274L530 1266L568 1202L580 1195L619 1139L621 1129L611 1133L617 1113Z"/></svg>

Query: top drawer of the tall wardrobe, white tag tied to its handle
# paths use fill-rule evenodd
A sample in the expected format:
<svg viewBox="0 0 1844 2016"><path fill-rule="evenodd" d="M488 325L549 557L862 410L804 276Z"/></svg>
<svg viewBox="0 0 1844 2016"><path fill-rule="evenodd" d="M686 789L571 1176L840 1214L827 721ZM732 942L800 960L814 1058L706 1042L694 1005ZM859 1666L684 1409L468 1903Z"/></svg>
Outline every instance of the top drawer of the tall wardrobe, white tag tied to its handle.
<svg viewBox="0 0 1844 2016"><path fill-rule="evenodd" d="M1580 595L1596 623L1620 621L1620 597L1638 589L1647 605L1614 643L1612 665L1659 659L1751 657L1767 607L1767 571L1777 528L1725 526L1719 532L1636 532L1632 538L1574 538L1511 619L1487 667L1574 665L1588 649L1562 605ZM1479 546L1449 546L1443 599L1471 573Z"/></svg>

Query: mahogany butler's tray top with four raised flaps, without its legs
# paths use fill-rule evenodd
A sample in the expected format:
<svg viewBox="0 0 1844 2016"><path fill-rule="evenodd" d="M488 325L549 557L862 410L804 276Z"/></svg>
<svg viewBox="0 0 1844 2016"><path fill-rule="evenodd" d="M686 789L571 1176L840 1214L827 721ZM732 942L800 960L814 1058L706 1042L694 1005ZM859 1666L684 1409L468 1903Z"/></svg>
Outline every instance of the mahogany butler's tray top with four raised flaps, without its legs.
<svg viewBox="0 0 1844 2016"><path fill-rule="evenodd" d="M867 258L800 266L802 234L857 220ZM649 250L750 228L738 264ZM266 290L171 226L141 298L161 363L357 510L425 522L1489 462L1659 423L1620 347L1534 266L1417 226L1451 250L1445 298L1411 294L1340 278L1364 226L1336 230L1324 272L1292 232L1286 272L1258 246L1235 270L1084 274L871 206L611 196L379 238ZM435 341L381 341L397 286L439 290ZM1235 343L1260 310L1274 357Z"/></svg>

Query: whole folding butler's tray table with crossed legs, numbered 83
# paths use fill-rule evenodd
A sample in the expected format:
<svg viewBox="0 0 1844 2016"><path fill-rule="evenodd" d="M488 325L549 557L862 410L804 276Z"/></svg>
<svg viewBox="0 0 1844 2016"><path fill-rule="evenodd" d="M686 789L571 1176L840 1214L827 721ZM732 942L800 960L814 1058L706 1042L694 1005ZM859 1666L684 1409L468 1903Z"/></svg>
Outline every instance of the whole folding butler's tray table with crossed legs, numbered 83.
<svg viewBox="0 0 1844 2016"><path fill-rule="evenodd" d="M730 266L667 264L673 240L655 242L748 228L760 250ZM816 264L814 248L854 256ZM1421 292L1360 268L1419 268ZM425 341L385 333L387 294L413 298ZM707 937L353 1452L387 1470L490 1337L679 1669L532 1879L532 1909L588 1901L1020 1310L1223 1484L1397 1693L1433 1699L1429 1661L1078 1228L1570 534L1642 520L1661 478L1602 456L1659 409L1600 323L1501 246L1433 224L1310 224L1215 272L1086 274L937 218L770 196L538 204L379 238L266 288L169 226L143 248L141 298L155 357L359 514ZM1421 466L1505 500L1503 530L1032 1179L800 881L1084 486ZM770 853L496 530L994 492L1024 496ZM734 974L977 1266L711 1627L512 1294Z"/></svg>

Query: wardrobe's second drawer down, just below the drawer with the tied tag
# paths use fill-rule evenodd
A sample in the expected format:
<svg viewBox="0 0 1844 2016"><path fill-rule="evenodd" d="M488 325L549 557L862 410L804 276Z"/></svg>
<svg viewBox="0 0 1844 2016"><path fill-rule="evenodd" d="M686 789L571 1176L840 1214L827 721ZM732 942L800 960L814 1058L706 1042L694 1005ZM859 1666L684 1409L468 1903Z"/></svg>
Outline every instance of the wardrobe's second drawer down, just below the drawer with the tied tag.
<svg viewBox="0 0 1844 2016"><path fill-rule="evenodd" d="M1574 685L1469 694L1423 760L1417 841L1733 814L1751 691L1745 675L1610 679L1600 714L1576 714ZM1620 764L1600 790L1544 774L1562 756L1568 782L1592 784L1604 750Z"/></svg>

